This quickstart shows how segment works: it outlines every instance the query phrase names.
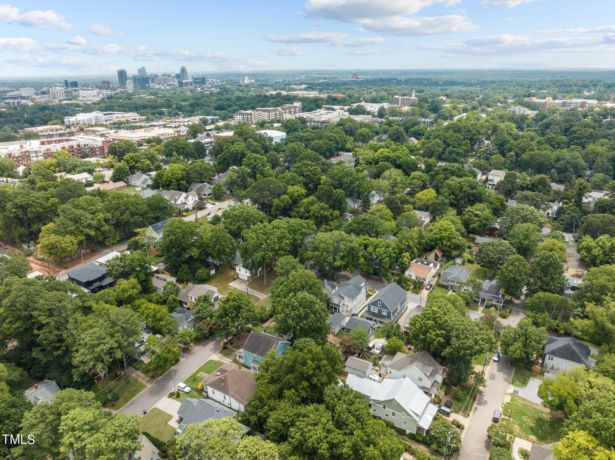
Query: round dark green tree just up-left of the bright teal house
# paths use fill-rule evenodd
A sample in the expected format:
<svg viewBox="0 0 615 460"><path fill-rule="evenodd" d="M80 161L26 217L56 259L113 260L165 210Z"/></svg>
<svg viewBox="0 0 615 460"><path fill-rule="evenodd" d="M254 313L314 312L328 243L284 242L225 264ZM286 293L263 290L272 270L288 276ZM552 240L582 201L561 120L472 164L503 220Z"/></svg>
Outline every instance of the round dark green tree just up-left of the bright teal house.
<svg viewBox="0 0 615 460"><path fill-rule="evenodd" d="M249 324L256 322L256 309L245 292L231 289L218 303L215 319L220 337L235 337Z"/></svg>

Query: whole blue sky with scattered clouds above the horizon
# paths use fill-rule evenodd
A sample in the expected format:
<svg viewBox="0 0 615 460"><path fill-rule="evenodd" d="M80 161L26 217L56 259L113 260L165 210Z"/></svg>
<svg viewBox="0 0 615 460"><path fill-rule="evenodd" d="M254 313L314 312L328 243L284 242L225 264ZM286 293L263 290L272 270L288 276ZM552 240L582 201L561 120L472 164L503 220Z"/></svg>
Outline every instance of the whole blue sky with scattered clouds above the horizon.
<svg viewBox="0 0 615 460"><path fill-rule="evenodd" d="M613 0L0 0L0 79L613 68L614 23Z"/></svg>

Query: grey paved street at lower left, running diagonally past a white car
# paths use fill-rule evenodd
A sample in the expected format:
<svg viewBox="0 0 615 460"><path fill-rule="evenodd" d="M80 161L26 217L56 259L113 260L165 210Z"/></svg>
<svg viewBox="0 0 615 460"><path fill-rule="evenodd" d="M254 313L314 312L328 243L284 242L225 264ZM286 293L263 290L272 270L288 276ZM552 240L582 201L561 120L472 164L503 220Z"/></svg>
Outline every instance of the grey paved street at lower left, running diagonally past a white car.
<svg viewBox="0 0 615 460"><path fill-rule="evenodd" d="M165 373L156 380L148 389L132 400L121 412L126 414L143 414L143 410L154 407L162 397L168 395L173 390L173 373L175 374L175 384L188 378L192 372L197 370L205 361L222 347L216 337L211 337L205 343L192 351L188 357L176 364L172 370Z"/></svg>

